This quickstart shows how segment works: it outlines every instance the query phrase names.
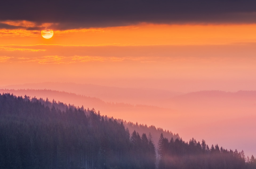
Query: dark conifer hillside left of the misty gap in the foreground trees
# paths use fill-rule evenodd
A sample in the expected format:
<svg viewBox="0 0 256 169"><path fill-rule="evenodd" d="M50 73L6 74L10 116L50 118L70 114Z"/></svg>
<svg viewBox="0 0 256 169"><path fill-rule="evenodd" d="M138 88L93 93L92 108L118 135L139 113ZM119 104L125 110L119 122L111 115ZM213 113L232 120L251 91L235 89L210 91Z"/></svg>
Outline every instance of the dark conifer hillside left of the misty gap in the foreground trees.
<svg viewBox="0 0 256 169"><path fill-rule="evenodd" d="M65 111L28 97L0 96L0 168L155 168L150 135L123 123Z"/></svg>

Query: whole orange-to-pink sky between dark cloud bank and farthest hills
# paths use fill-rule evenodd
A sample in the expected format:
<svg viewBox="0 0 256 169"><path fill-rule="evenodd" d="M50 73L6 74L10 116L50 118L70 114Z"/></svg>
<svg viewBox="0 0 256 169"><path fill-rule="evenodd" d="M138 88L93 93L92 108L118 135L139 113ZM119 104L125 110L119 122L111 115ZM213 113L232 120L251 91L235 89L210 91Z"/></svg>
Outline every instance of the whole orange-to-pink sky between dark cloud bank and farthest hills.
<svg viewBox="0 0 256 169"><path fill-rule="evenodd" d="M175 92L256 90L256 24L141 23L53 30L53 37L44 39L41 30L25 29L36 26L33 22L1 23L23 28L0 29L0 86L75 82ZM39 27L50 25L54 24ZM165 114L155 123L179 130L185 138L191 136L191 130L173 127L168 118L171 115ZM212 122L209 126L214 125ZM198 130L198 126L192 128ZM195 135L202 133L207 135L207 131Z"/></svg>

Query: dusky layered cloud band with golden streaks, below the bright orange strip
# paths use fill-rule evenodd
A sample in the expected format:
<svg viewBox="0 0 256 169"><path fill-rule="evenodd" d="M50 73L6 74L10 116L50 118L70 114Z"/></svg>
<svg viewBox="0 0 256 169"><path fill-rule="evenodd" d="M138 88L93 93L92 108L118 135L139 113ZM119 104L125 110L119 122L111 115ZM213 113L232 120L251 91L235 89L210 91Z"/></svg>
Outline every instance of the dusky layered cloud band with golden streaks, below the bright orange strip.
<svg viewBox="0 0 256 169"><path fill-rule="evenodd" d="M256 43L226 45L0 45L1 63L70 64L94 62L157 63L186 69L219 67L247 69L255 67ZM210 51L210 52L209 52ZM243 56L243 57L241 57ZM206 68L206 69L208 69ZM225 69L226 69L225 68ZM182 68L183 69L183 68Z"/></svg>

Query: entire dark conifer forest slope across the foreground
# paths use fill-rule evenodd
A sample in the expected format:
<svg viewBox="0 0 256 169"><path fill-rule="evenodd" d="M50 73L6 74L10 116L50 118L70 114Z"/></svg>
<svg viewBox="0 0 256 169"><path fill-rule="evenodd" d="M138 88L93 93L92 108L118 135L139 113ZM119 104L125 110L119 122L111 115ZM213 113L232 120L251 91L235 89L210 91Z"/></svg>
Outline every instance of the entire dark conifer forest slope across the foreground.
<svg viewBox="0 0 256 169"><path fill-rule="evenodd" d="M0 168L256 168L253 155L204 140L160 134L156 148L151 134L94 109L11 94L0 94L0 108Z"/></svg>

